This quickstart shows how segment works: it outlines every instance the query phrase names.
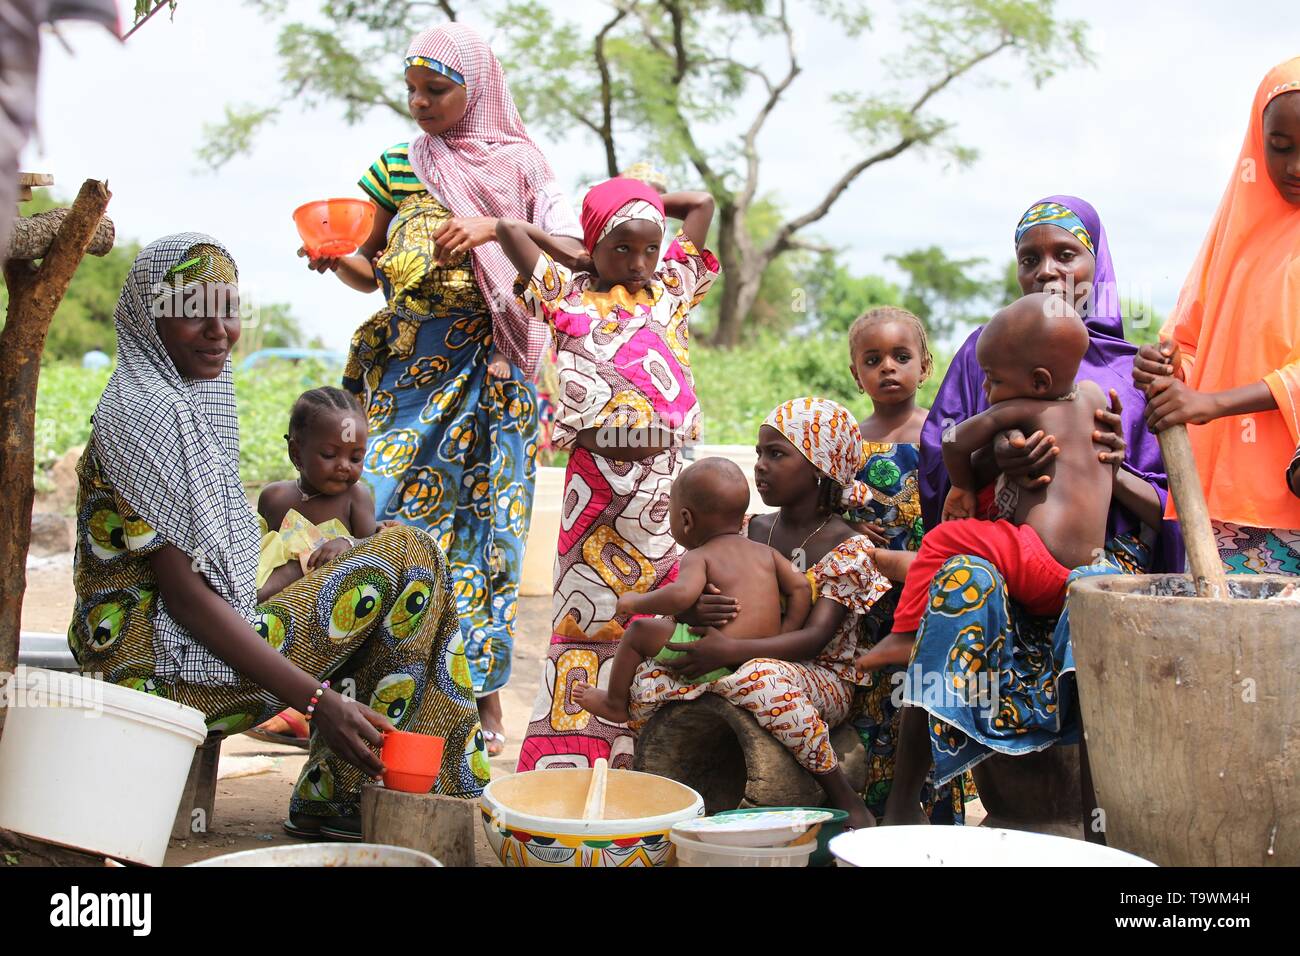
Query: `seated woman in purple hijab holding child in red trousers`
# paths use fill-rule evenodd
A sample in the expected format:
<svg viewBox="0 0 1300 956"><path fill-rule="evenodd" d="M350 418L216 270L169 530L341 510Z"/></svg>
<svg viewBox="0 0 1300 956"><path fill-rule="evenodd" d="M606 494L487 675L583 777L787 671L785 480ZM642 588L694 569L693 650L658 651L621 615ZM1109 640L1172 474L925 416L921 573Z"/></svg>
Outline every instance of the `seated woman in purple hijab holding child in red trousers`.
<svg viewBox="0 0 1300 956"><path fill-rule="evenodd" d="M1132 385L1138 347L1124 341L1101 219L1082 199L1048 196L1020 219L1015 256L1017 277L1026 294L1060 291L1074 302L1091 338L1079 377L1114 390L1122 405L1119 421L1110 415L1109 423L1098 423L1102 428L1118 425L1122 442L1114 434L1098 432L1098 437L1113 449L1122 445L1124 451L1106 554L1098 555L1093 566L1076 568L1071 580L1088 574L1182 570L1178 525L1165 522L1158 531L1147 528L1124 505L1134 497L1131 490L1143 484L1154 486L1164 505L1167 480L1160 446L1143 419L1144 398ZM975 359L979 334L980 329L972 332L958 350L922 429L919 477L927 527L939 520L949 488L940 445L944 429L988 407L984 372ZM984 485L1005 479L998 480L996 496L1004 509L1017 486L1048 480L1036 472L1052 454L1050 436L1010 432L972 463ZM1069 604L1058 620L1032 618L1009 600L1006 584L992 563L962 555L935 575L931 609L922 620L904 685L904 700L911 706L904 710L894 788L885 808L887 819L894 823L922 822L918 797L931 758L936 786L974 769L983 792L985 783L978 765L987 757L1079 741ZM976 693L933 693L926 680L932 674L945 675L946 680L939 682L944 687ZM923 719L927 711L928 721ZM998 790L996 783L989 780L991 792Z"/></svg>

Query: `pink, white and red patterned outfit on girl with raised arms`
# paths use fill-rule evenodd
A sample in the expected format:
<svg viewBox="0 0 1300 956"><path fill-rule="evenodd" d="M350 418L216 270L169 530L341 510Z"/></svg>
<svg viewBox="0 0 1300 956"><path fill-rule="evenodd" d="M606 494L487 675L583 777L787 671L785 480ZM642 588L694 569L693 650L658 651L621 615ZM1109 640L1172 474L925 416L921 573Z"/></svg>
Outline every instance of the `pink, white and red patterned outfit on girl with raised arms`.
<svg viewBox="0 0 1300 956"><path fill-rule="evenodd" d="M718 260L680 234L663 268L636 295L599 293L597 277L572 273L545 252L523 287L524 303L554 330L559 390L552 441L569 450L555 555L551 648L519 769L611 766L632 760L632 736L572 700L578 680L610 665L625 620L619 594L672 580L677 546L668 533L668 490L681 446L699 434L688 354L690 310L718 277ZM668 447L618 462L577 445L588 428L658 431Z"/></svg>

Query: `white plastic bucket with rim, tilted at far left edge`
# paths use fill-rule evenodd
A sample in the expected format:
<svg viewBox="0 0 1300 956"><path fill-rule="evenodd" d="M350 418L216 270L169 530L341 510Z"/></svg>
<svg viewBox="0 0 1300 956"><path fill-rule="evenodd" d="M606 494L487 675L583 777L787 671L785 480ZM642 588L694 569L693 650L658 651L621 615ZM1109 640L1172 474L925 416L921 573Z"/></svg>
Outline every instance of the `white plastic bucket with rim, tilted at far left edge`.
<svg viewBox="0 0 1300 956"><path fill-rule="evenodd" d="M75 674L20 667L4 687L0 827L159 866L203 714Z"/></svg>

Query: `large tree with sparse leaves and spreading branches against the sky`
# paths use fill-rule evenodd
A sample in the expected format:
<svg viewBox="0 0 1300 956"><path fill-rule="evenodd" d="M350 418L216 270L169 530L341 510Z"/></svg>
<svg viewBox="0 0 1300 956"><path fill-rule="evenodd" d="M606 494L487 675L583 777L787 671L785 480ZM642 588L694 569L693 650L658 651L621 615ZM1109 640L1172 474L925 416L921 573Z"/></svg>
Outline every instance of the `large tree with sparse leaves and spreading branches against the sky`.
<svg viewBox="0 0 1300 956"><path fill-rule="evenodd" d="M448 3L321 0L320 22L283 22L277 0L250 0L282 23L283 101L343 107L355 122L373 108L406 114L391 69L411 25ZM714 339L740 341L767 269L807 248L806 230L823 220L868 169L909 152L935 150L958 163L975 152L952 137L954 122L931 111L933 100L984 64L1018 56L1041 83L1062 62L1091 62L1087 27L1060 20L1054 0L911 0L901 17L907 38L889 60L902 83L894 91L841 90L833 95L858 155L828 174L810 208L784 219L755 241L749 219L760 186L759 138L792 96L803 62L786 0L606 0L592 27L567 20L568 4L508 0L478 4L498 31L494 48L507 65L524 117L552 135L578 129L603 153L603 173L620 169L620 144L640 148L679 174L688 170L718 200L718 256L728 277ZM862 0L809 0L810 17L861 36L871 29ZM746 51L740 53L738 51ZM738 116L741 104L753 107ZM202 155L220 163L247 148L280 105L228 108ZM797 105L790 107L797 109ZM789 112L789 109L786 111ZM737 137L720 125L740 120ZM625 159L625 157L624 157Z"/></svg>

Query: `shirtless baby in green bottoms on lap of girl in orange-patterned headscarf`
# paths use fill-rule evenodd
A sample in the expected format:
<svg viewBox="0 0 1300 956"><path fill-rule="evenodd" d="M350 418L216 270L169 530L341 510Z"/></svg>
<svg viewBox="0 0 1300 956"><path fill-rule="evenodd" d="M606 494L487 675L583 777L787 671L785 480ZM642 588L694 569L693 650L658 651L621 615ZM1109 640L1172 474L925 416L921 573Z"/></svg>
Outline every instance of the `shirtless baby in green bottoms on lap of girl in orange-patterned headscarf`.
<svg viewBox="0 0 1300 956"><path fill-rule="evenodd" d="M712 584L738 602L736 618L722 627L728 637L767 637L803 626L812 606L807 579L772 548L751 541L742 525L749 509L749 484L725 458L703 458L672 483L668 524L672 537L686 549L677 580L656 591L629 591L619 597L619 614L680 614L694 606ZM785 597L781 615L780 597ZM573 688L573 700L606 721L628 719L628 693L642 661L671 662L681 657L673 644L699 640L686 624L670 618L638 618L623 635L610 670L610 688L586 683ZM690 683L707 683L731 674L723 669Z"/></svg>

